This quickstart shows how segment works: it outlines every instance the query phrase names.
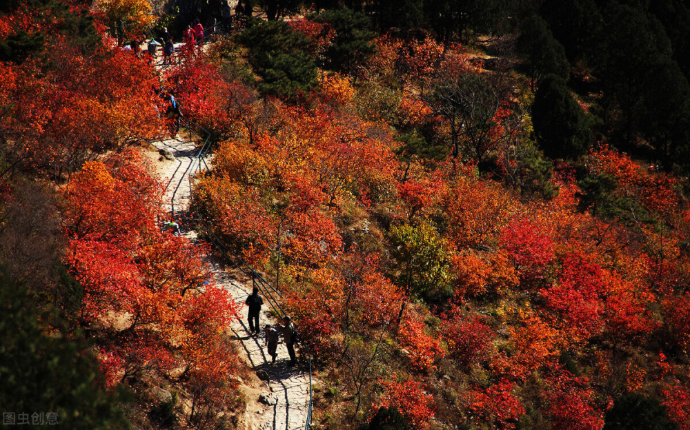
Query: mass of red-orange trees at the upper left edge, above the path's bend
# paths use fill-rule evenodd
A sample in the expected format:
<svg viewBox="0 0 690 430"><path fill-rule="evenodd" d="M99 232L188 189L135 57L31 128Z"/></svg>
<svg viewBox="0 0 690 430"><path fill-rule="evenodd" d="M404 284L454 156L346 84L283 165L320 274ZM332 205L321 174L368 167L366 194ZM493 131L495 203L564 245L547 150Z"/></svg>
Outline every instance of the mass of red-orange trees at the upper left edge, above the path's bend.
<svg viewBox="0 0 690 430"><path fill-rule="evenodd" d="M0 128L22 167L61 174L95 152L161 132L157 79L146 63L119 50L83 57L60 37L46 56L0 64L0 95L13 101L0 102Z"/></svg>

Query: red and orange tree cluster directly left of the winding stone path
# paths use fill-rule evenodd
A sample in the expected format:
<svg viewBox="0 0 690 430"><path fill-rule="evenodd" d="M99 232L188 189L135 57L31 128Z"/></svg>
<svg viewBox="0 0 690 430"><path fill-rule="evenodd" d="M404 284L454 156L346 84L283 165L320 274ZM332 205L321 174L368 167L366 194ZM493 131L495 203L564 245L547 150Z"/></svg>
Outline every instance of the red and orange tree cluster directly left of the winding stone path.
<svg viewBox="0 0 690 430"><path fill-rule="evenodd" d="M66 190L79 323L101 347L108 385L184 366L193 401L210 405L230 394L235 356L222 333L235 306L210 280L206 247L155 227L161 189L140 163L130 152L86 163Z"/></svg>

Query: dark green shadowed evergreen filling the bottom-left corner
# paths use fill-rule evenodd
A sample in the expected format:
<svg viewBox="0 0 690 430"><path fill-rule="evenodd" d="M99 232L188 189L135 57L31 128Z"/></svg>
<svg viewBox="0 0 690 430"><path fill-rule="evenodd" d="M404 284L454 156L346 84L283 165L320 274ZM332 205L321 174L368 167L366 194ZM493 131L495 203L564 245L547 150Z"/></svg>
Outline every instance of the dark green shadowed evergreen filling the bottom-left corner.
<svg viewBox="0 0 690 430"><path fill-rule="evenodd" d="M0 271L0 405L28 414L28 422L55 419L64 429L124 429L119 400L104 391L86 346L48 329L36 303ZM53 321L51 321L54 323ZM48 416L48 413L51 415ZM52 415L55 414L55 415Z"/></svg>

